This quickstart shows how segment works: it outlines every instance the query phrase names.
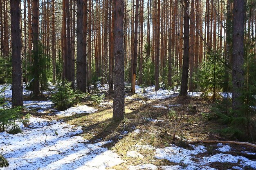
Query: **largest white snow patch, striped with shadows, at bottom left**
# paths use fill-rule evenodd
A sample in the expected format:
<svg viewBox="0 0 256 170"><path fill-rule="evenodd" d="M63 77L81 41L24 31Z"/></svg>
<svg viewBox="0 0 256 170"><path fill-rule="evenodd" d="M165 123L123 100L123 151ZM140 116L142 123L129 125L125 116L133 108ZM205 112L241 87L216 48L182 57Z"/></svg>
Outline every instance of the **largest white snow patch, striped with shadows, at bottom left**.
<svg viewBox="0 0 256 170"><path fill-rule="evenodd" d="M9 161L0 170L105 170L123 162L119 156L102 148L107 142L84 144L81 127L61 121L31 117L22 134L0 133L1 154Z"/></svg>

